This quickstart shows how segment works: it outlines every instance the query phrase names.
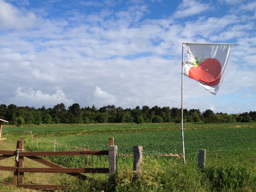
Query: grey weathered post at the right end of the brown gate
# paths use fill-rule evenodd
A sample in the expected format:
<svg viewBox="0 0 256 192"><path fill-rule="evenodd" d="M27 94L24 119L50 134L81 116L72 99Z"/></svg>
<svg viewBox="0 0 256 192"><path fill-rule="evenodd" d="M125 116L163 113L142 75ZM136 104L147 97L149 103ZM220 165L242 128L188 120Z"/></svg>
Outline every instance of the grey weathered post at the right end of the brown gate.
<svg viewBox="0 0 256 192"><path fill-rule="evenodd" d="M117 174L117 146L109 146L109 181Z"/></svg>

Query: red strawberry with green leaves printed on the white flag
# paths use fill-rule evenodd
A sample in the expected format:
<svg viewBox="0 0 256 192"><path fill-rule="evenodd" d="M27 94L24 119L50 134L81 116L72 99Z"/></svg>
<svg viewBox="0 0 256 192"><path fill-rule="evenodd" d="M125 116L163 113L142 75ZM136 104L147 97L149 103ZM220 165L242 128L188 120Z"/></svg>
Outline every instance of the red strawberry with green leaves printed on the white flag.
<svg viewBox="0 0 256 192"><path fill-rule="evenodd" d="M221 78L221 63L214 58L197 60L194 67L189 69L190 78L203 82L206 85L215 86Z"/></svg>

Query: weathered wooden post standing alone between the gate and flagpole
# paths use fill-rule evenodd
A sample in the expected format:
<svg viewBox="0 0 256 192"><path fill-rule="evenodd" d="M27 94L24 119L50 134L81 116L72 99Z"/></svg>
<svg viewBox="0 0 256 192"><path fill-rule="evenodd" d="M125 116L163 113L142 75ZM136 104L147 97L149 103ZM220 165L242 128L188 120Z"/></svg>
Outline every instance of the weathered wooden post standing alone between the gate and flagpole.
<svg viewBox="0 0 256 192"><path fill-rule="evenodd" d="M143 147L133 146L133 171L135 171L135 178L142 175L142 156Z"/></svg>

